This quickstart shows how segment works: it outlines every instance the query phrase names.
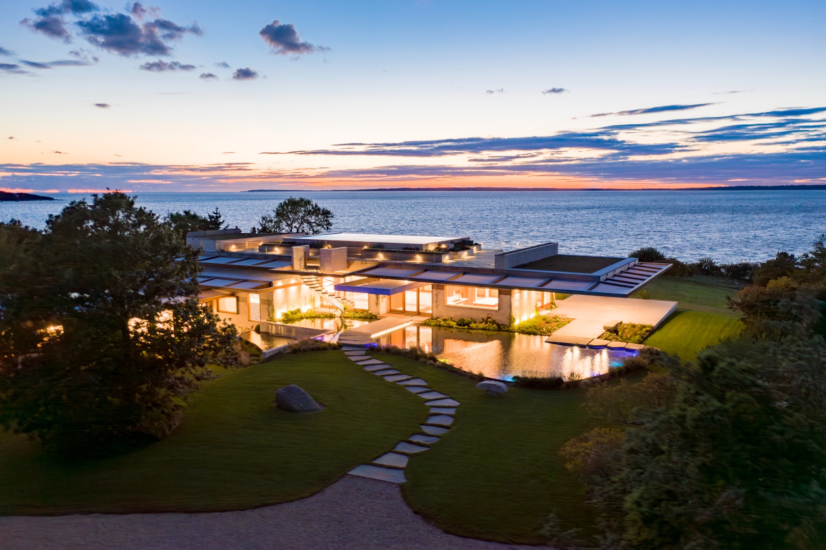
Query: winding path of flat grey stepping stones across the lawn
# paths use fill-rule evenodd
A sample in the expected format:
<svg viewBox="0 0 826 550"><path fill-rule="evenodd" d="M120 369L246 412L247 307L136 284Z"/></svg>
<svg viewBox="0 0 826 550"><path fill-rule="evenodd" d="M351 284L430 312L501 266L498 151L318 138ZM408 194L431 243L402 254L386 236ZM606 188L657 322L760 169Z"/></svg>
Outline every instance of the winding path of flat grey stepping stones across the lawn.
<svg viewBox="0 0 826 550"><path fill-rule="evenodd" d="M366 355L366 348L344 346L342 349L347 358L363 366L365 371L384 377L387 382L404 386L407 391L424 399L425 405L430 407L427 420L419 426L421 434L412 434L406 440L396 443L396 447L391 451L373 458L369 464L354 467L348 472L353 476L369 477L391 483L405 483L407 478L404 468L411 456L429 451L430 445L438 442L444 434L450 431L449 426L453 424L456 407L460 404L450 396L445 396L444 393L428 387L424 378L411 377L393 368L392 365Z"/></svg>

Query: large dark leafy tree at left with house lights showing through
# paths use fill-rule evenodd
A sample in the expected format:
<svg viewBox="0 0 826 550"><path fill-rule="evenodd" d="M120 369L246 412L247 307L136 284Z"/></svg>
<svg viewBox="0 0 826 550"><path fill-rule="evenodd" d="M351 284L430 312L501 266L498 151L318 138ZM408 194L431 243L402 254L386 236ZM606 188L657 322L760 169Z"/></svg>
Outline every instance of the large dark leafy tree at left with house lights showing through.
<svg viewBox="0 0 826 550"><path fill-rule="evenodd" d="M56 451L163 438L235 341L198 305L197 251L122 193L50 216L19 268L0 294L0 424Z"/></svg>

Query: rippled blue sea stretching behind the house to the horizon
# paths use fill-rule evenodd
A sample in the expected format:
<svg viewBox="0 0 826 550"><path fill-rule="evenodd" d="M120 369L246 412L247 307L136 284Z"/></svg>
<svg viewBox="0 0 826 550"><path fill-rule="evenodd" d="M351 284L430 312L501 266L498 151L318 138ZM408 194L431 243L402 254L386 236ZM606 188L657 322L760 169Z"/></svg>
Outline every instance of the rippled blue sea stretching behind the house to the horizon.
<svg viewBox="0 0 826 550"><path fill-rule="evenodd" d="M155 192L138 202L159 214L221 209L244 230L301 192ZM811 249L826 232L826 191L312 192L335 213L334 230L469 236L491 248L558 241L562 254L624 256L655 246L684 260L761 260ZM0 202L0 220L42 227L83 195Z"/></svg>

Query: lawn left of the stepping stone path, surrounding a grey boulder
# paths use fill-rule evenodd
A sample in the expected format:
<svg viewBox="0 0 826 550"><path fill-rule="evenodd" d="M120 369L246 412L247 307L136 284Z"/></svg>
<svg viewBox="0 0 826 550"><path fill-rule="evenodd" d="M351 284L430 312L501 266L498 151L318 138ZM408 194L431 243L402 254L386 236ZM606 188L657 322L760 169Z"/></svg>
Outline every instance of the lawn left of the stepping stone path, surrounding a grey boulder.
<svg viewBox="0 0 826 550"><path fill-rule="evenodd" d="M296 383L325 405L275 408ZM242 510L312 495L418 429L425 406L340 352L290 355L230 372L190 398L168 439L64 462L0 436L0 514Z"/></svg>

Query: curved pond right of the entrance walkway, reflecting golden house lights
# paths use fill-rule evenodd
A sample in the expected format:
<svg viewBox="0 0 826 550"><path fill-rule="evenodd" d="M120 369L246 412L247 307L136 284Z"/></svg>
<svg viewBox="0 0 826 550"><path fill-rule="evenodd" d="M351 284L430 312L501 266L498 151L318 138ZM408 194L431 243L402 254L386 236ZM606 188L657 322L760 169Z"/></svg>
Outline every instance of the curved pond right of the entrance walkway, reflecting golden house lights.
<svg viewBox="0 0 826 550"><path fill-rule="evenodd" d="M577 380L608 372L634 352L547 344L546 336L411 325L377 339L382 345L419 346L454 367L510 381L522 377Z"/></svg>

